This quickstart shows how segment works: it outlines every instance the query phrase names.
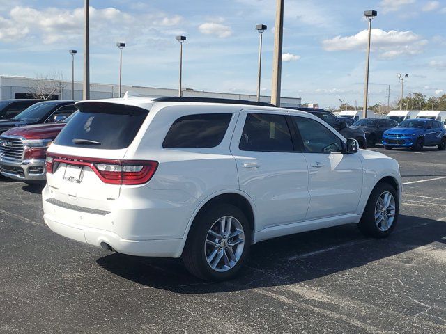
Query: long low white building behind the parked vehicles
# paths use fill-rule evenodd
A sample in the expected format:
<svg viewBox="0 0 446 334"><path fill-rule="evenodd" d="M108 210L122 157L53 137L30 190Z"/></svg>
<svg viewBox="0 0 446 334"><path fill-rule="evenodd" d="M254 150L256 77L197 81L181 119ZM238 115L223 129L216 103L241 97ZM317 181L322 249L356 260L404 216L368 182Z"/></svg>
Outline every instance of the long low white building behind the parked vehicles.
<svg viewBox="0 0 446 334"><path fill-rule="evenodd" d="M54 90L51 98L54 100L71 99L71 81L59 81L50 79L32 79L26 77L8 77L0 75L0 100L24 99L32 97L32 93L38 88L48 87ZM177 96L178 90L171 88L155 88L142 86L125 86L123 93L131 90L144 97ZM90 98L108 99L118 97L119 86L114 84L90 84ZM215 97L220 99L256 101L256 95L236 93L215 93L185 88L185 97ZM75 82L75 100L82 100L82 82ZM270 102L269 96L261 96L261 102ZM300 106L300 97L281 97L281 106Z"/></svg>

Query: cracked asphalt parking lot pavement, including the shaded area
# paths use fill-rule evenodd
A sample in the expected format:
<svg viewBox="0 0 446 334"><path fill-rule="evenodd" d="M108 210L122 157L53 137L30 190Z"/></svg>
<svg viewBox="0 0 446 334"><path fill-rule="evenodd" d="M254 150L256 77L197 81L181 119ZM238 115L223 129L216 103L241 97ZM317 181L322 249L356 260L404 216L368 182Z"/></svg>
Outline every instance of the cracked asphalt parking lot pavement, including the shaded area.
<svg viewBox="0 0 446 334"><path fill-rule="evenodd" d="M403 175L390 237L264 241L226 283L60 237L41 188L0 178L0 333L446 333L446 152L374 150Z"/></svg>

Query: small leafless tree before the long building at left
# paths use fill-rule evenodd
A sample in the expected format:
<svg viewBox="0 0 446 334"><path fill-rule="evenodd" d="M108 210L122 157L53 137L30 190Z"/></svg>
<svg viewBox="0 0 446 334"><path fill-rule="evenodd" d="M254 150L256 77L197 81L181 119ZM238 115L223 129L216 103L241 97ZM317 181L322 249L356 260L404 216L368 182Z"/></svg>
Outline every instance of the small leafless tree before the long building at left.
<svg viewBox="0 0 446 334"><path fill-rule="evenodd" d="M52 100L54 95L62 95L62 90L66 85L61 72L45 76L37 74L36 80L33 80L33 84L29 87L29 93L36 99Z"/></svg>

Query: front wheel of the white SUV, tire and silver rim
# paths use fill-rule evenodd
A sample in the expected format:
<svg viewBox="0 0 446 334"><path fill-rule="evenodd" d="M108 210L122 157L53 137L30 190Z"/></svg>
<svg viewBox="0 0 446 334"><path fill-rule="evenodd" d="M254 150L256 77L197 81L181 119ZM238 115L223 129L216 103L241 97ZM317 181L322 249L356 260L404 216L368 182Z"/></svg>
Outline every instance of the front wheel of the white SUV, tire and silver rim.
<svg viewBox="0 0 446 334"><path fill-rule="evenodd" d="M398 216L397 190L388 183L381 183L371 192L358 228L367 237L385 238L397 225Z"/></svg>

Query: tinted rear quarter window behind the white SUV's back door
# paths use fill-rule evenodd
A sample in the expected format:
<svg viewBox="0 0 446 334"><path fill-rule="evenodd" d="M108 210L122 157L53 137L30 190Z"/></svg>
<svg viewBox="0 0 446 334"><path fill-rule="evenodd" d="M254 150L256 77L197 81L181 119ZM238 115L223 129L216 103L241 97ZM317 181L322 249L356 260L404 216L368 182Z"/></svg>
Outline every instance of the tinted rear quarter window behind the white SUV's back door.
<svg viewBox="0 0 446 334"><path fill-rule="evenodd" d="M231 113L203 113L178 118L167 132L163 148L215 148L226 134Z"/></svg>

